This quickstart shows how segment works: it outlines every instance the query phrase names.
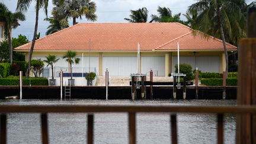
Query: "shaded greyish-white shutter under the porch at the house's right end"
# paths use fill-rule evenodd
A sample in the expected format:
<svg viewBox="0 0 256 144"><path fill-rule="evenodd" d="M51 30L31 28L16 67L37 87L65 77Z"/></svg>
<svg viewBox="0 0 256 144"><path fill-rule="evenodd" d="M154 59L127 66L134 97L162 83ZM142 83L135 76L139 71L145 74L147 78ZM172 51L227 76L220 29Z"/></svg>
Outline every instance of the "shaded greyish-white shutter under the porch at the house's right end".
<svg viewBox="0 0 256 144"><path fill-rule="evenodd" d="M202 72L219 72L219 56L181 56L180 64L187 63L192 66L192 70L199 68ZM172 57L172 72L175 72L177 56Z"/></svg>

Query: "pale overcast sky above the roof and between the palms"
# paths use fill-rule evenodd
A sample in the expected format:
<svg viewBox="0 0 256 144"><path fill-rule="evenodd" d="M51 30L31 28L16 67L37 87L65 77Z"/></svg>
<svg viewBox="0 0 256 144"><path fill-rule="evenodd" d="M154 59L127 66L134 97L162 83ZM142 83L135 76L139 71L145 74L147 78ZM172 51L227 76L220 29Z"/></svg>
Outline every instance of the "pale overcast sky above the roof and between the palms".
<svg viewBox="0 0 256 144"><path fill-rule="evenodd" d="M193 4L194 0L92 0L97 5L96 14L98 16L98 20L94 23L127 23L124 18L129 18L130 9L139 9L142 7L146 7L149 11L148 21L151 20L151 14L157 14L157 7L168 7L171 9L172 14L185 14L188 6ZM248 0L247 3L251 3L255 0ZM5 5L11 10L15 12L17 7L17 0L0 0L0 2L4 2ZM51 16L52 12L52 1L49 0L48 7L48 17ZM12 31L12 36L17 37L19 34L23 34L27 36L27 38L31 41L33 38L34 31L34 23L36 12L34 9L34 1L31 4L30 8L27 12L25 12L26 21L20 22L20 26ZM39 28L38 33L41 33L41 37L43 37L46 33L48 22L44 21L46 18L45 13L41 10L39 13ZM181 16L182 20L185 20L185 17ZM72 25L72 20L69 20ZM87 21L85 17L83 20L77 19L78 23L92 23L91 21Z"/></svg>

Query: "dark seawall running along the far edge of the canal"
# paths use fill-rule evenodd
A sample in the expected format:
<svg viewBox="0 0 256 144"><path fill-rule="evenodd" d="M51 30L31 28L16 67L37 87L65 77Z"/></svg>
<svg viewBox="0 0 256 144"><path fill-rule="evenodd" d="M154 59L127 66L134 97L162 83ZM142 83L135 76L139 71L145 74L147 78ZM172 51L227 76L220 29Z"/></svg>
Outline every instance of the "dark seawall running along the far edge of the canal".
<svg viewBox="0 0 256 144"><path fill-rule="evenodd" d="M199 87L199 99L221 100L222 86ZM226 99L236 99L237 87L226 87ZM11 95L18 95L18 86L0 86L0 99ZM131 99L131 87L109 87L109 100ZM140 98L140 89L137 89ZM63 94L64 95L64 94ZM195 87L187 87L187 99L195 99ZM24 86L23 99L56 99L60 98L60 87L52 86ZM71 87L71 98L105 99L105 87ZM146 88L146 98L149 99L149 87ZM183 89L177 89L177 99L183 98ZM153 99L172 99L172 87L153 87Z"/></svg>

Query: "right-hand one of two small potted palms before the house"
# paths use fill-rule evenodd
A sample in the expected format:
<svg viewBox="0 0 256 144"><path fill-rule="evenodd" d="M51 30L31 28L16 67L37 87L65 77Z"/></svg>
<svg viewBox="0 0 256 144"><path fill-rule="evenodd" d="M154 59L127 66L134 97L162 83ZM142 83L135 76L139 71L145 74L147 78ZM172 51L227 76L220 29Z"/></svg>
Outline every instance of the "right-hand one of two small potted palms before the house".
<svg viewBox="0 0 256 144"><path fill-rule="evenodd" d="M73 52L73 51L66 52L65 56L63 56L62 58L66 59L66 61L69 63L71 68L71 79L68 79L68 85L75 85L75 79L73 79L73 75L72 75L72 64L79 63L80 59L76 57L76 52Z"/></svg>

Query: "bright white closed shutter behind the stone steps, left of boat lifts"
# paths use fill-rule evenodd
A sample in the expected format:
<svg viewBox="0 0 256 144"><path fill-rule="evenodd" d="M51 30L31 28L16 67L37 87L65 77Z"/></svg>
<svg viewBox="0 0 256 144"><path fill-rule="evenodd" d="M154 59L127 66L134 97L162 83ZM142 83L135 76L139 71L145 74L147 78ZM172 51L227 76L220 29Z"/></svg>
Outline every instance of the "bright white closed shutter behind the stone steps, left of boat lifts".
<svg viewBox="0 0 256 144"><path fill-rule="evenodd" d="M110 76L129 76L137 71L137 57L103 57L103 75L106 68Z"/></svg>

